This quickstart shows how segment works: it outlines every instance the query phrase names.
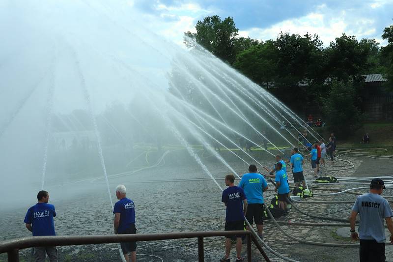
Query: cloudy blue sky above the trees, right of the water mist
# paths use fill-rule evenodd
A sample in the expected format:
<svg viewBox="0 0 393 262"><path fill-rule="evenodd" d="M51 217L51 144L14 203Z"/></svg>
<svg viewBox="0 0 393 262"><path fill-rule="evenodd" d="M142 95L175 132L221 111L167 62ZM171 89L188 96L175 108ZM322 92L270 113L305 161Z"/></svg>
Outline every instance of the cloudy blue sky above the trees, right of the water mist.
<svg viewBox="0 0 393 262"><path fill-rule="evenodd" d="M128 0L154 31L182 43L198 20L233 17L239 36L275 39L280 31L318 34L325 46L342 33L375 38L393 24L393 0Z"/></svg>

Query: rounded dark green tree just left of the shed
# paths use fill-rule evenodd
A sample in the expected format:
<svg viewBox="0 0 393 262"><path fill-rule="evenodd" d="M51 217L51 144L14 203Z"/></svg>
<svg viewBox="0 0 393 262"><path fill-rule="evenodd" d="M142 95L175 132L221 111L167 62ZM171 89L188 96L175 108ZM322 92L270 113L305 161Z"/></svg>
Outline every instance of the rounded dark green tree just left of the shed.
<svg viewBox="0 0 393 262"><path fill-rule="evenodd" d="M358 107L361 98L351 79L346 82L334 79L328 96L323 99L324 119L330 130L339 131L340 137L348 137L362 126Z"/></svg>

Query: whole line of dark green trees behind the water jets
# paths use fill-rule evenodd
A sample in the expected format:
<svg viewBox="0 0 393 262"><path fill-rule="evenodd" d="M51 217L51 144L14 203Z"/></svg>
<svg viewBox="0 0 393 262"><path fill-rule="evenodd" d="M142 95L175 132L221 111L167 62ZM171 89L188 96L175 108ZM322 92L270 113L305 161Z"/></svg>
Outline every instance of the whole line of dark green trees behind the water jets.
<svg viewBox="0 0 393 262"><path fill-rule="evenodd" d="M392 89L393 25L383 31L385 47L345 33L328 47L309 33L280 32L266 41L239 37L233 19L217 15L198 21L196 30L185 32L186 46L196 41L298 113L320 110L314 114L340 133L362 124L365 74L383 74Z"/></svg>

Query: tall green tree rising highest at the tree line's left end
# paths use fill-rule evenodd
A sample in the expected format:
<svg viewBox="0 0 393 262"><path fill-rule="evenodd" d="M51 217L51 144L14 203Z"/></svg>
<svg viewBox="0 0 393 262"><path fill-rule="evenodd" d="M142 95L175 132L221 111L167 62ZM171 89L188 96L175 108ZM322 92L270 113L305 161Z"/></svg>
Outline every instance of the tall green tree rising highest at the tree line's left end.
<svg viewBox="0 0 393 262"><path fill-rule="evenodd" d="M217 15L207 16L198 21L195 27L197 33L186 32L187 37L193 38L206 50L212 52L218 58L232 64L236 58L236 36L239 29L236 28L232 17L224 20ZM186 45L190 43L186 39Z"/></svg>

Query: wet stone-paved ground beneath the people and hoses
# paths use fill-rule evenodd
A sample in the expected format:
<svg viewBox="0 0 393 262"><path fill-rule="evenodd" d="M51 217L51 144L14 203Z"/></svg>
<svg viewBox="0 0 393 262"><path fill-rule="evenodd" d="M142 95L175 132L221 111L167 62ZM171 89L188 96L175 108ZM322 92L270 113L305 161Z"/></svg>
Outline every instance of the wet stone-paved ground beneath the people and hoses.
<svg viewBox="0 0 393 262"><path fill-rule="evenodd" d="M389 167L393 160L374 160L369 158L347 158L354 164L354 168L345 171L339 169L346 168L347 163L330 163L328 175L342 176L374 176L390 175ZM236 166L236 165L235 165ZM311 170L309 162L306 163L306 175L309 177L309 184L312 185ZM379 168L378 168L379 167ZM209 167L211 168L211 167ZM220 167L217 167L220 168ZM239 170L243 169L243 164L238 164ZM164 171L164 172L163 172ZM377 172L376 172L377 171ZM152 232L174 232L174 231L203 231L203 230L224 230L223 221L225 219L224 207L217 201L221 193L217 186L209 180L200 181L177 181L159 183L154 179L162 179L162 174L170 174L170 170L161 169L157 178L152 175L152 171L146 173L146 184L138 180L132 180L131 176L119 177L118 180L129 179L126 185L135 184L133 192L135 201L139 203L138 214L140 222L138 224L139 233ZM191 174L189 177L198 177L191 170L184 170ZM150 175L150 176L149 176ZM166 176L168 177L168 176ZM205 177L201 175L201 177ZM153 179L154 178L154 179ZM178 177L184 178L179 174ZM289 178L292 178L291 176ZM113 178L112 185L119 181ZM222 181L220 181L222 184ZM96 187L102 184L94 183ZM147 186L146 186L147 185ZM356 185L330 185L335 188L350 188ZM105 189L105 188L104 188ZM365 192L366 190L359 192ZM105 190L100 194L86 193L80 196L77 204L73 201L63 201L56 204L58 210L62 209L56 218L56 228L59 234L108 234L112 233L112 217L108 212L108 200ZM327 191L317 191L315 193L328 193ZM268 191L265 198L269 201L274 192ZM269 195L271 195L269 197ZM392 190L387 190L385 195L393 195ZM168 202L168 199L175 198L176 201ZM341 194L336 196L314 196L309 201L354 201L356 195ZM104 204L103 204L104 203ZM352 204L298 204L307 213L326 216L348 218ZM85 210L94 210L86 212ZM154 210L154 214L151 211ZM15 216L23 217L25 208L14 210L12 213L4 212L0 215L0 232L3 239L10 239L17 236L28 235L20 221L15 221ZM60 211L58 211L60 212ZM72 217L72 219L70 219ZM20 219L19 219L20 220ZM310 223L336 223L329 220L313 219L300 214L295 210L279 219L280 221L310 222ZM346 236L337 233L337 229L342 227L310 227L310 226L282 226L282 228L292 236L297 238L328 242L328 243L354 243ZM349 231L349 227L348 227ZM17 235L13 235L18 233ZM5 236L8 235L8 236ZM278 229L265 223L264 238L266 243L274 250L302 262L315 261L359 261L358 248L336 248L323 247L299 243L284 236ZM139 261L170 261L188 262L197 261L197 241L195 239L168 240L138 243ZM223 255L224 238L215 237L205 240L205 261L218 261ZM115 245L100 246L80 246L61 247L60 261L118 261L118 253ZM233 254L233 253L232 253ZM272 261L281 261L268 252ZM0 261L4 259L0 256ZM22 258L28 258L28 252L22 252ZM233 258L233 256L232 256ZM162 260L161 260L162 259ZM253 248L253 261L262 261L258 251ZM387 248L387 261L393 261L391 247Z"/></svg>

